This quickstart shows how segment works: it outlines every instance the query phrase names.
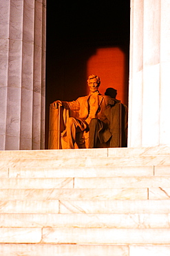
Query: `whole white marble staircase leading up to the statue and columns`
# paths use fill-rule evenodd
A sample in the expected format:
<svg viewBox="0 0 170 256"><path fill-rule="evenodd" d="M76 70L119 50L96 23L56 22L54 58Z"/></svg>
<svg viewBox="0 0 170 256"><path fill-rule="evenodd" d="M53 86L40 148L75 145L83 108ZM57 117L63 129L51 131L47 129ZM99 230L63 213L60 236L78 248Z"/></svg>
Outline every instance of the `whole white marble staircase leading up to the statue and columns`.
<svg viewBox="0 0 170 256"><path fill-rule="evenodd" d="M170 147L0 152L0 256L170 255Z"/></svg>

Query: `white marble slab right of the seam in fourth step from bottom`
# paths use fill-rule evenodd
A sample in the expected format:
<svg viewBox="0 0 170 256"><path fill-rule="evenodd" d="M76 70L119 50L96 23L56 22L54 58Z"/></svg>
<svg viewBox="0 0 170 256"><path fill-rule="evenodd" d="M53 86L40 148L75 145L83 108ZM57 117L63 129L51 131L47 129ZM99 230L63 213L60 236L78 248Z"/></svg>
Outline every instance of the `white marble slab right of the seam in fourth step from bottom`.
<svg viewBox="0 0 170 256"><path fill-rule="evenodd" d="M167 200L60 201L60 213L169 214Z"/></svg>

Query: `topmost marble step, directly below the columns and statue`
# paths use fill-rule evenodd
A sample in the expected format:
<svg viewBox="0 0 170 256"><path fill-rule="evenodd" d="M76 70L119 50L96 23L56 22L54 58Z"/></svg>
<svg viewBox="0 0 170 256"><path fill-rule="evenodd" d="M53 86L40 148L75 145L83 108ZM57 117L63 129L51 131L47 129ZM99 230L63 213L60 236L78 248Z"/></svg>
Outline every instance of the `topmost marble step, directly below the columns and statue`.
<svg viewBox="0 0 170 256"><path fill-rule="evenodd" d="M121 147L103 149L50 149L50 150L12 150L0 151L0 159L4 158L78 158L99 156L158 156L170 155L170 147Z"/></svg>

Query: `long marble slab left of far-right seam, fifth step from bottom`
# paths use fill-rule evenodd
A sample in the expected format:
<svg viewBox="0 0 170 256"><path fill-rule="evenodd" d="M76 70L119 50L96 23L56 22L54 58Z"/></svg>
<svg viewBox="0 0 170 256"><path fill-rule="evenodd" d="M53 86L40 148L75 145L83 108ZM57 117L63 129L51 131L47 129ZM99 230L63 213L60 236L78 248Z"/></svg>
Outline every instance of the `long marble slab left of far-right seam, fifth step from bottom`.
<svg viewBox="0 0 170 256"><path fill-rule="evenodd" d="M0 189L0 200L147 200L147 188Z"/></svg>

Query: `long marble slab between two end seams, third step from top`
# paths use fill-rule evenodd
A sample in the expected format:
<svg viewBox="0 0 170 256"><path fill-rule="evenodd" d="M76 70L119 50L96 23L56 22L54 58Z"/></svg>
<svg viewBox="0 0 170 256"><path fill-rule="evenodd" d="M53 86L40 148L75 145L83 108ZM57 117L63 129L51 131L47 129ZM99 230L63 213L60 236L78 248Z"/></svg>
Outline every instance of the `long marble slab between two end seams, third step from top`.
<svg viewBox="0 0 170 256"><path fill-rule="evenodd" d="M162 166L162 169L164 166ZM161 170L162 170L161 169ZM170 174L167 174L170 175ZM10 167L10 178L153 176L153 166Z"/></svg>

